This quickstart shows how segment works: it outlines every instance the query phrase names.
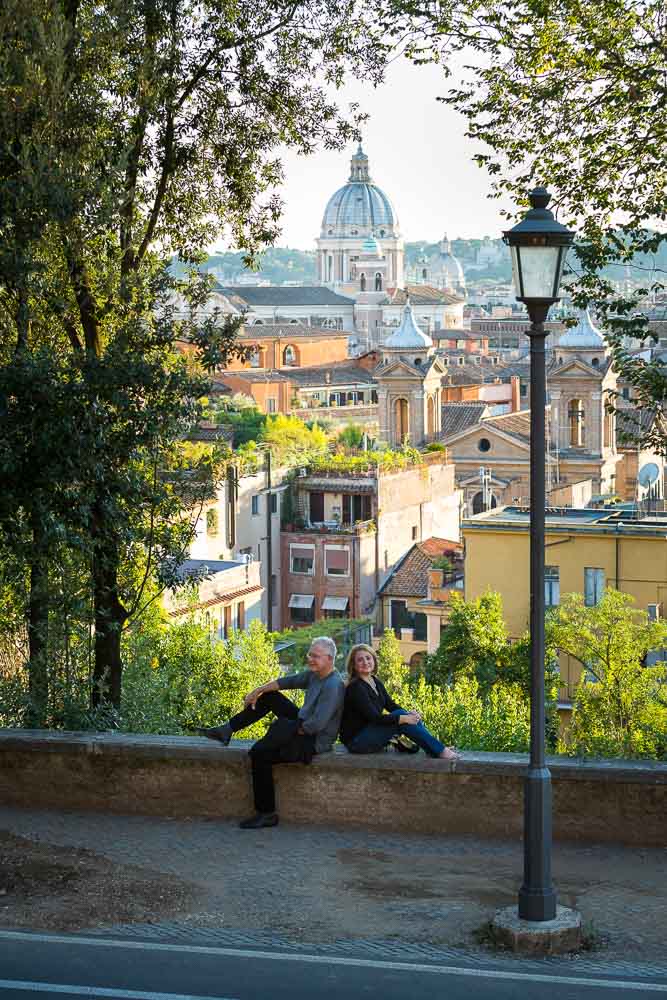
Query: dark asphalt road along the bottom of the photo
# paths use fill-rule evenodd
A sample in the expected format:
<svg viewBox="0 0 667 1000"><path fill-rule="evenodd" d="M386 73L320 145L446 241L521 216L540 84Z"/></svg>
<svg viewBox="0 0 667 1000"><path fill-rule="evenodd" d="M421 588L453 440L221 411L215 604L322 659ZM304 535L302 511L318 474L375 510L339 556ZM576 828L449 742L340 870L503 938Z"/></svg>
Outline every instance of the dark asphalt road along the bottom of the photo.
<svg viewBox="0 0 667 1000"><path fill-rule="evenodd" d="M611 1000L667 996L667 978L577 975L576 963L413 964L0 932L0 1000ZM527 967L528 968L528 967ZM560 969L563 969L561 974Z"/></svg>

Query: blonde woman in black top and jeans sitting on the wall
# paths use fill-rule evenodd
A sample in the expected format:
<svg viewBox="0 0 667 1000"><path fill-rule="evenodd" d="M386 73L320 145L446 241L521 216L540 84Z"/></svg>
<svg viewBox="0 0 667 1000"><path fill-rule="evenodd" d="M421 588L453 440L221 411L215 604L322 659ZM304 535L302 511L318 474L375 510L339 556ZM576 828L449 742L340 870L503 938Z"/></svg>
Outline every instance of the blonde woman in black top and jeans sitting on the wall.
<svg viewBox="0 0 667 1000"><path fill-rule="evenodd" d="M377 676L375 651L363 643L353 646L347 658L347 687L340 738L350 753L378 753L397 736L404 735L417 746L399 750L417 752L421 747L429 757L458 760L453 747L446 747L428 731L419 712L408 712L389 697Z"/></svg>

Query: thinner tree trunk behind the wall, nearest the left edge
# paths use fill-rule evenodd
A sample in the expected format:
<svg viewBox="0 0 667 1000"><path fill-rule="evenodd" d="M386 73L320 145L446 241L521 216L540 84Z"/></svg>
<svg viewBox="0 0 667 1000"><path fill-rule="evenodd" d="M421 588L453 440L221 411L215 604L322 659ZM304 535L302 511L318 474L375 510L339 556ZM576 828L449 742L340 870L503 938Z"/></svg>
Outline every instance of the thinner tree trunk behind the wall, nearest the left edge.
<svg viewBox="0 0 667 1000"><path fill-rule="evenodd" d="M33 558L30 565L30 595L28 598L28 686L30 706L26 723L39 729L46 723L49 699L49 572L44 551L41 519L32 515Z"/></svg>

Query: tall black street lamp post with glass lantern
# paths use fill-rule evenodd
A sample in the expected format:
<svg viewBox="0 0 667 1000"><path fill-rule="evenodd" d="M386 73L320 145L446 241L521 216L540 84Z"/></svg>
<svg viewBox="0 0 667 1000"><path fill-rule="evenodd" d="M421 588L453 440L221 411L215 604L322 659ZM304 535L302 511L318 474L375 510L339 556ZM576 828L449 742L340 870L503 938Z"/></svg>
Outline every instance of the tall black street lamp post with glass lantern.
<svg viewBox="0 0 667 1000"><path fill-rule="evenodd" d="M544 759L544 410L546 372L544 323L559 299L559 286L574 233L553 217L551 195L535 188L531 208L503 236L512 253L516 297L530 317L530 764L524 789L523 885L519 917L553 920L556 893L551 882L551 773Z"/></svg>

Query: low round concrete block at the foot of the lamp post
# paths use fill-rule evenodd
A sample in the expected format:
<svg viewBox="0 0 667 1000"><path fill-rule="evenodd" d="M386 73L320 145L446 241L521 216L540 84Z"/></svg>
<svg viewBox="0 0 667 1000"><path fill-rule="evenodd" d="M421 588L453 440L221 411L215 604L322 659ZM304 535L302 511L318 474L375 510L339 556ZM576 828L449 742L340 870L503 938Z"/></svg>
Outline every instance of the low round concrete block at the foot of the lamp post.
<svg viewBox="0 0 667 1000"><path fill-rule="evenodd" d="M497 910L491 922L499 945L522 955L565 955L581 948L581 914L556 908L554 920L521 920L516 906Z"/></svg>

